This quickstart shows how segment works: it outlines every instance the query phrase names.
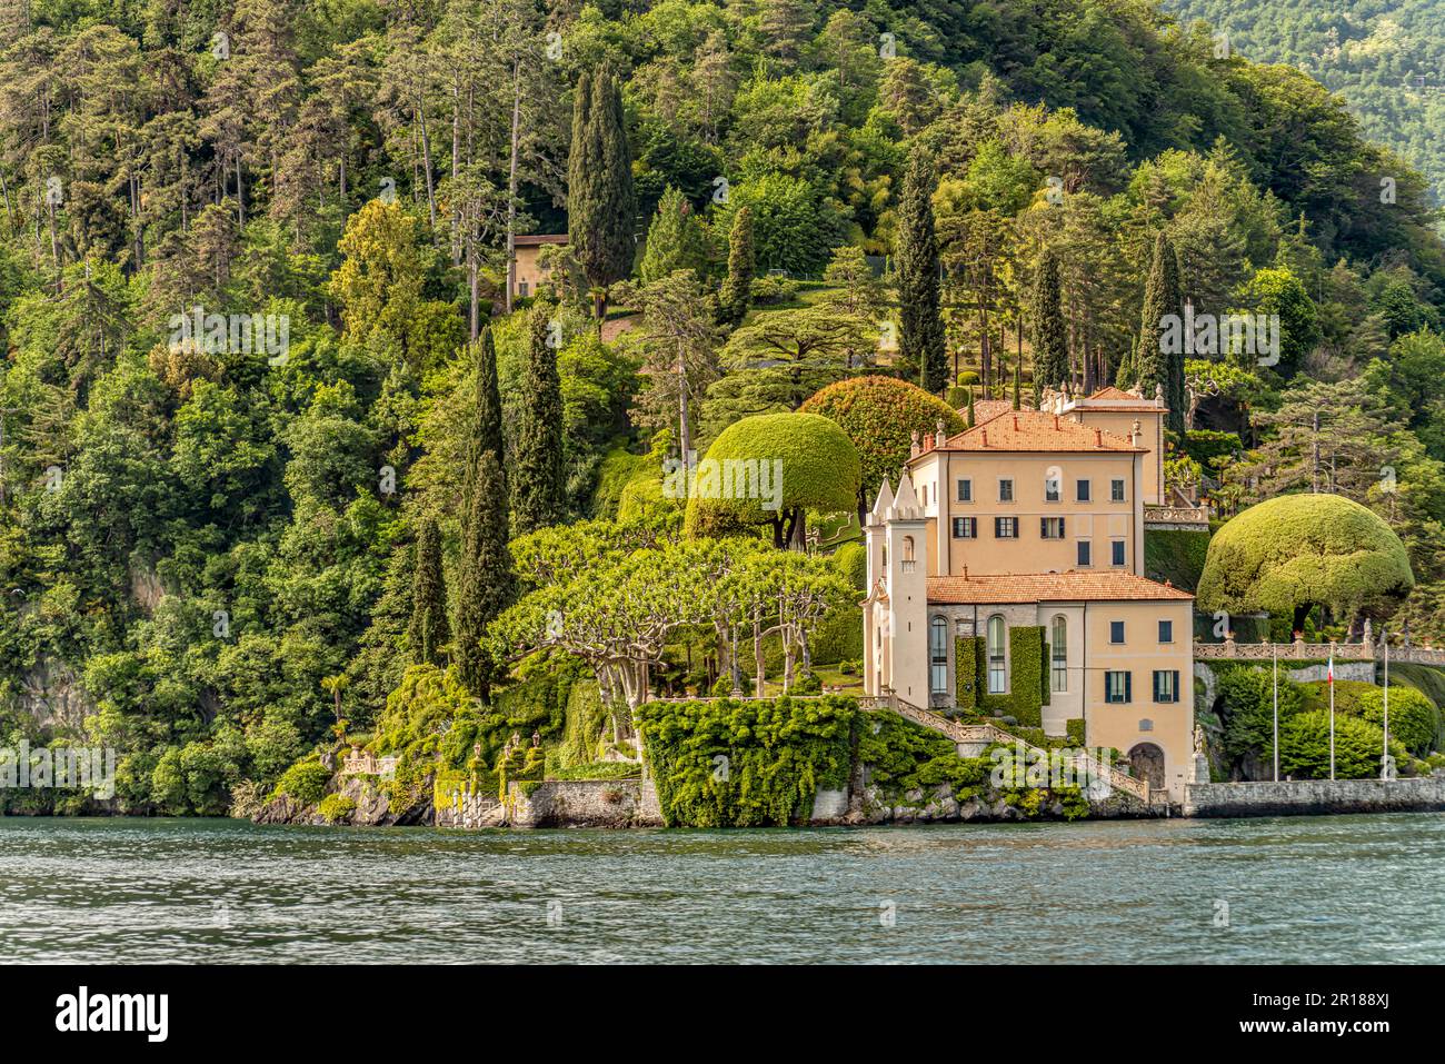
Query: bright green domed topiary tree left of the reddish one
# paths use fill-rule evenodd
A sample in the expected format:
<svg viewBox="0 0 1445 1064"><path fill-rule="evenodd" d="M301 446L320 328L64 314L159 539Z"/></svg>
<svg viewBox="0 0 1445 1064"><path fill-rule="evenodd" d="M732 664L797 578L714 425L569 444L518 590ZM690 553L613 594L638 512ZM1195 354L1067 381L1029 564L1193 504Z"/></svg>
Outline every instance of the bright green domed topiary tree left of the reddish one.
<svg viewBox="0 0 1445 1064"><path fill-rule="evenodd" d="M689 536L772 525L773 545L802 548L806 515L847 510L858 497L858 450L818 413L760 413L712 441L688 486Z"/></svg>

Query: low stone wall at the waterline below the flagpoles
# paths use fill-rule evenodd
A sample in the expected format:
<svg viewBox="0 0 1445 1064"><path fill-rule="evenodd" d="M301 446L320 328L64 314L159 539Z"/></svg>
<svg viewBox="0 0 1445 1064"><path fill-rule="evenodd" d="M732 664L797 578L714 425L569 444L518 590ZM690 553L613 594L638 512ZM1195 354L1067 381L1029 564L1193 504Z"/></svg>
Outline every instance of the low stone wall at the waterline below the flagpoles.
<svg viewBox="0 0 1445 1064"><path fill-rule="evenodd" d="M1445 776L1186 784L1186 817L1298 817L1445 810Z"/></svg>

